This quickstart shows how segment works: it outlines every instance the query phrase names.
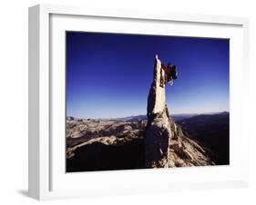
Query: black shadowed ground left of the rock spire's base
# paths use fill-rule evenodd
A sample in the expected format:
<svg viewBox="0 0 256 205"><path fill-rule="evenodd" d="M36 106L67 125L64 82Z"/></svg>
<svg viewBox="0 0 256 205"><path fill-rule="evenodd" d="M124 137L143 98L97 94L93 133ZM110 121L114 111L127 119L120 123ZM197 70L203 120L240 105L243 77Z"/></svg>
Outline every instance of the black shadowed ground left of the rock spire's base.
<svg viewBox="0 0 256 205"><path fill-rule="evenodd" d="M67 159L67 172L143 169L144 161L142 139L120 145L97 141L74 151L74 156Z"/></svg>

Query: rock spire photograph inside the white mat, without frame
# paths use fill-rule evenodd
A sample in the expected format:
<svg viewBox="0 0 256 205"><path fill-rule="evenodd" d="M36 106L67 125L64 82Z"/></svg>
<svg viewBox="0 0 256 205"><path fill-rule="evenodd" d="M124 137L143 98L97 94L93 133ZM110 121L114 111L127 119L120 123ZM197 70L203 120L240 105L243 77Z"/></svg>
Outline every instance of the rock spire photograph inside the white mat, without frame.
<svg viewBox="0 0 256 205"><path fill-rule="evenodd" d="M230 164L230 39L66 31L66 172Z"/></svg>

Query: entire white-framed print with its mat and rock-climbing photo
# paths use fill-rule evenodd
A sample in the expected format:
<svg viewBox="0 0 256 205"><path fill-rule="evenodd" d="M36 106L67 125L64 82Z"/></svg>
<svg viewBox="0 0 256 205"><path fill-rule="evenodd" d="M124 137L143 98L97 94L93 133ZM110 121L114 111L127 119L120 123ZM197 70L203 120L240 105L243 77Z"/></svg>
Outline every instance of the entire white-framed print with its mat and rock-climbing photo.
<svg viewBox="0 0 256 205"><path fill-rule="evenodd" d="M248 184L248 19L29 8L29 196Z"/></svg>

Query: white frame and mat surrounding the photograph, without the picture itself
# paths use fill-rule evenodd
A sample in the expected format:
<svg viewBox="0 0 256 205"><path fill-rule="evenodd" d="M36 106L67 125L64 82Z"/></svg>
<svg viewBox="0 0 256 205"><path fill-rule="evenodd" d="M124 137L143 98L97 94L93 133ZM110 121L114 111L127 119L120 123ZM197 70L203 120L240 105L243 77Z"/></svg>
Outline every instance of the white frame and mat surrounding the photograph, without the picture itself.
<svg viewBox="0 0 256 205"><path fill-rule="evenodd" d="M97 26L93 27L95 18L99 19L99 22ZM106 26L105 21L112 21L113 19L115 23L109 23L109 26ZM134 30L121 25L117 28L117 24L125 21L128 24L135 25L133 26ZM158 27L158 24L162 23L177 24L177 28L174 26L172 35L225 36L233 39L233 44L230 46L230 54L232 55L230 62L230 136L233 134L234 140L230 142L232 159L229 167L179 168L172 171L167 169L157 171L97 171L94 173L68 174L67 176L65 170L63 170L63 163L58 164L56 162L61 157L64 161L63 141L52 136L53 133L62 133L60 136L64 133L63 129L61 131L61 129L55 130L53 128L53 124L58 124L59 127L63 128L64 121L60 119L65 116L63 110L56 113L54 109L55 104L58 103L62 103L61 107L63 108L63 102L53 101L56 93L60 92L57 94L59 99L63 99L63 94L65 95L65 90L62 87L63 78L61 79L61 76L65 76L65 71L62 71L63 66L65 66L63 62L65 44L63 44L61 34L66 29L116 33L125 31L127 33L144 34L136 29L146 22L149 25L154 24L154 27ZM87 23L87 26L83 27L84 23ZM180 30L179 24L183 26ZM192 29L189 27L190 25ZM70 27L67 28L67 26ZM198 31L193 29L193 26L198 26ZM215 27L214 33L211 32L213 27L210 26ZM154 27L149 26L148 30L145 27L145 33L158 34ZM116 28L117 30L115 30ZM242 17L120 11L65 5L36 5L30 7L29 196L37 200L51 200L248 185L249 163L243 160L245 159L243 156L248 156L249 136L245 134L241 123L242 109L247 99L246 86L249 76L248 30L249 20ZM58 50L55 51L56 47ZM56 69L52 69L53 67ZM57 68L60 70L57 70ZM60 77L56 76L56 72L60 72ZM235 83L239 77L240 83ZM52 118L56 120L51 120ZM242 136L240 141L236 137L238 135ZM65 139L65 135L63 139ZM58 141L60 142L58 143ZM77 181L76 189L72 181Z"/></svg>

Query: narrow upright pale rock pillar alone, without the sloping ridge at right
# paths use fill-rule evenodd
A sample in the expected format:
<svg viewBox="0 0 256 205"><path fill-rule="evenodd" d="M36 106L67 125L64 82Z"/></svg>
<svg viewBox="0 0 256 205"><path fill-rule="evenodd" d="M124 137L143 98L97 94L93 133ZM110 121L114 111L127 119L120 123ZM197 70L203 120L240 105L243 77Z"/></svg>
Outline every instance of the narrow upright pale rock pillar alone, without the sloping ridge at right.
<svg viewBox="0 0 256 205"><path fill-rule="evenodd" d="M168 167L170 139L169 111L166 104L165 85L160 86L161 62L155 59L154 77L148 94L148 124L145 131L145 160L148 168Z"/></svg>

